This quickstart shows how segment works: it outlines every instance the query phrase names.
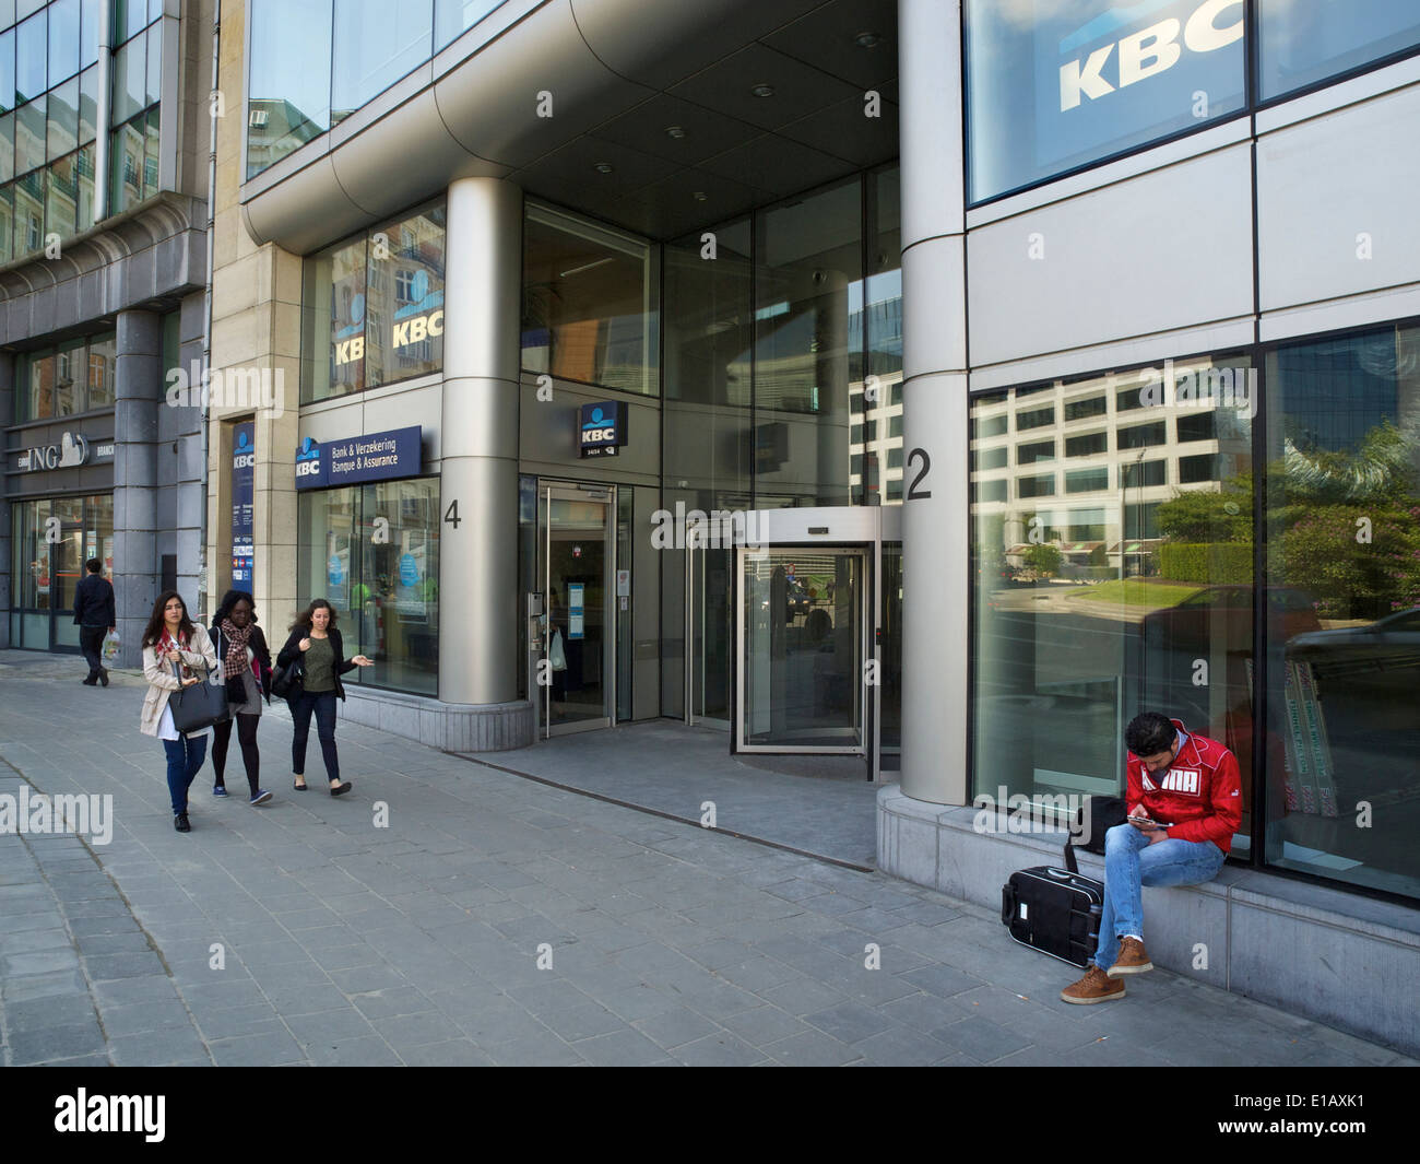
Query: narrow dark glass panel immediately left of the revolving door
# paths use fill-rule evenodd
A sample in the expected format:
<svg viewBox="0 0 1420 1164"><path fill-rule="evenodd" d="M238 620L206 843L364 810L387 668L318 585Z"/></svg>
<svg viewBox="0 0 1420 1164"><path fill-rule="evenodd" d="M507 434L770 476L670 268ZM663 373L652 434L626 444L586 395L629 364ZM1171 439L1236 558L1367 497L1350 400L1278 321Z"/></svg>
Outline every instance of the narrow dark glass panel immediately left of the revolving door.
<svg viewBox="0 0 1420 1164"><path fill-rule="evenodd" d="M686 722L730 726L734 550L686 549Z"/></svg>

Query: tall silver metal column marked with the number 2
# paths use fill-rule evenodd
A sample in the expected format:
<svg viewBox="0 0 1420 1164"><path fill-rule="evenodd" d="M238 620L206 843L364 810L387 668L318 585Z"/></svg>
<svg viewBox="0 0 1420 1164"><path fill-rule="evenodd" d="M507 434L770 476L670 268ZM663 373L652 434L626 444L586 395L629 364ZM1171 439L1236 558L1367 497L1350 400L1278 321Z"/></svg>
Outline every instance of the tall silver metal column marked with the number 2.
<svg viewBox="0 0 1420 1164"><path fill-rule="evenodd" d="M961 3L899 0L902 78L902 790L964 804L967 772L966 190ZM914 453L922 449L922 453Z"/></svg>

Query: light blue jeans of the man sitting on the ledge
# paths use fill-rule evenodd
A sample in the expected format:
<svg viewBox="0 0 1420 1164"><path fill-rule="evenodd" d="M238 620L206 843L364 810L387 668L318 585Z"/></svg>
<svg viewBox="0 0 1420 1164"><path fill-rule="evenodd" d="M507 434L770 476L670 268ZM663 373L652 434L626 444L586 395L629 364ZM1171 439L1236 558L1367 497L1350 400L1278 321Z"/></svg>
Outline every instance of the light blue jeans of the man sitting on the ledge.
<svg viewBox="0 0 1420 1164"><path fill-rule="evenodd" d="M1099 918L1095 965L1109 969L1125 934L1145 932L1143 885L1201 885L1223 868L1223 850L1213 841L1162 840L1133 824L1105 833L1105 911Z"/></svg>

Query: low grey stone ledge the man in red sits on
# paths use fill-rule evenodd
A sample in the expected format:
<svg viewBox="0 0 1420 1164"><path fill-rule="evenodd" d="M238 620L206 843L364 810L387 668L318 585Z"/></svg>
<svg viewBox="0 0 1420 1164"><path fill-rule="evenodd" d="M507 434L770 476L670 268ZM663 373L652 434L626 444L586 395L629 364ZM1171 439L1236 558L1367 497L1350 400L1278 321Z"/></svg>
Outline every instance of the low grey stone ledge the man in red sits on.
<svg viewBox="0 0 1420 1164"><path fill-rule="evenodd" d="M879 868L1000 910L1011 873L1062 864L1064 830L1010 833L1003 814L997 831L977 831L977 816L883 787ZM1076 857L1081 873L1105 878L1103 857ZM1154 964L1420 1055L1420 910L1228 866L1203 885L1146 888L1143 905Z"/></svg>

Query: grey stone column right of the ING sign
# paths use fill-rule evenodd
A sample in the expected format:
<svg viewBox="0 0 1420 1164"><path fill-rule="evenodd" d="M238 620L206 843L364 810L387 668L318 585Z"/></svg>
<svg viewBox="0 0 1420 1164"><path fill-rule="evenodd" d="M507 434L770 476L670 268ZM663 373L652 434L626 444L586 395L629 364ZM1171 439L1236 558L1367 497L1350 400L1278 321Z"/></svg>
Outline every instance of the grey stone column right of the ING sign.
<svg viewBox="0 0 1420 1164"><path fill-rule="evenodd" d="M159 405L163 324L153 311L118 313L114 361L114 601L119 667L141 667L138 640L158 600ZM189 613L196 594L183 594Z"/></svg>

